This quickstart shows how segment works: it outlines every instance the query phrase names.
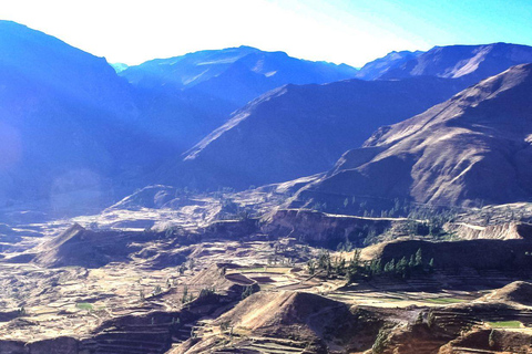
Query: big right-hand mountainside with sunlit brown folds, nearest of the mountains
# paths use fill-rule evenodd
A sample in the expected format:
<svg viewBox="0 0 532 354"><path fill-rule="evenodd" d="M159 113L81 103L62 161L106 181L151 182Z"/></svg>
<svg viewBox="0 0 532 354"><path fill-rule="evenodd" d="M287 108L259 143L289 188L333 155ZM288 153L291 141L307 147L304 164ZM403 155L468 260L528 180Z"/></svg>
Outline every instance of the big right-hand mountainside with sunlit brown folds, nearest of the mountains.
<svg viewBox="0 0 532 354"><path fill-rule="evenodd" d="M434 205L532 198L532 64L513 66L350 150L297 202L346 196Z"/></svg>

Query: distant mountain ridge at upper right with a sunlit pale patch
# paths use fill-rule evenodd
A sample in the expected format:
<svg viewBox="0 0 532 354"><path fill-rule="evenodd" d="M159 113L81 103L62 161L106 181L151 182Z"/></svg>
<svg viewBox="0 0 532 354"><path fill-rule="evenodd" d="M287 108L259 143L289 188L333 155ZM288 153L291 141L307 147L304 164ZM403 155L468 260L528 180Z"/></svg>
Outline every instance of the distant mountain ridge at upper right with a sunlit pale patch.
<svg viewBox="0 0 532 354"><path fill-rule="evenodd" d="M510 66L531 63L532 46L493 43L483 45L434 46L399 66L390 67L379 79L412 76L462 77L470 85L497 75Z"/></svg>

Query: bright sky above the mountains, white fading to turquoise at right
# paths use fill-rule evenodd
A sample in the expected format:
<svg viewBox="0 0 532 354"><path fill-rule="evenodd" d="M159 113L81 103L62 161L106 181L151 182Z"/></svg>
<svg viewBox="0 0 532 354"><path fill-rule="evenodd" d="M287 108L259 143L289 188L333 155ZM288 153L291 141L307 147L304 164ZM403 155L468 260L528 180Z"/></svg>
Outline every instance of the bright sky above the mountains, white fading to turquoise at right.
<svg viewBox="0 0 532 354"><path fill-rule="evenodd" d="M532 44L531 0L8 0L0 19L127 64L241 44L355 66L393 50Z"/></svg>

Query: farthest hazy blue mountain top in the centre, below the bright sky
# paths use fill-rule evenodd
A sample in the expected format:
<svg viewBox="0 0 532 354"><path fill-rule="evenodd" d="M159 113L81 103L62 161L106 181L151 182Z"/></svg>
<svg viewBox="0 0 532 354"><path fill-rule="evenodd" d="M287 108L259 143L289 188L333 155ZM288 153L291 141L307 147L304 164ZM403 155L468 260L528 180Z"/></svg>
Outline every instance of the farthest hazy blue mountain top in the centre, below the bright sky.
<svg viewBox="0 0 532 354"><path fill-rule="evenodd" d="M346 64L311 62L284 52L228 48L156 59L120 72L136 87L192 90L236 107L285 84L328 83L355 76Z"/></svg>

